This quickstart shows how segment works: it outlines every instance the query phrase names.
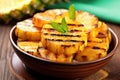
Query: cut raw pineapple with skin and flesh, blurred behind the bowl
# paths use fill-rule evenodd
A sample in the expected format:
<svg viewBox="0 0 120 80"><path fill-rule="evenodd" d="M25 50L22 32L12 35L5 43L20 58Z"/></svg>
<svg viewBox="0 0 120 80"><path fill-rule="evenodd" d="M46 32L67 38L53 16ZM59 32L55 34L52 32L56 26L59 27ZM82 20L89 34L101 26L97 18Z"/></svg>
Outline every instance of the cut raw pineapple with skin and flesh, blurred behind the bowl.
<svg viewBox="0 0 120 80"><path fill-rule="evenodd" d="M64 0L61 0L64 1ZM59 0L0 0L0 23L21 20Z"/></svg>

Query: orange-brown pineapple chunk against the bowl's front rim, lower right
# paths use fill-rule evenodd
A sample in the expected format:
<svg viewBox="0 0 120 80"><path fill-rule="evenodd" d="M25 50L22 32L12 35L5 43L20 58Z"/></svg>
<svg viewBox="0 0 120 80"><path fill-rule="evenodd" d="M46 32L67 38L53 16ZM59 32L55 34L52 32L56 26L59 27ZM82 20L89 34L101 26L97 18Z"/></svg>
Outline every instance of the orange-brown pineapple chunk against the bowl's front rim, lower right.
<svg viewBox="0 0 120 80"><path fill-rule="evenodd" d="M86 47L82 52L78 52L76 60L80 62L93 61L105 57L107 52L102 49L92 49Z"/></svg>

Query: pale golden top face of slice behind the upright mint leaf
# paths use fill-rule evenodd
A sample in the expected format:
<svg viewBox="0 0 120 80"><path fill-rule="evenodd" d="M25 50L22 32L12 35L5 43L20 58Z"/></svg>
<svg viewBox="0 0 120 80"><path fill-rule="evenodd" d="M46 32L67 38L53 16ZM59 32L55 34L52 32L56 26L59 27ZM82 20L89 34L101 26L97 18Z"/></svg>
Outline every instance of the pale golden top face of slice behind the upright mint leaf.
<svg viewBox="0 0 120 80"><path fill-rule="evenodd" d="M87 30L91 30L92 28L97 27L98 25L98 18L88 12L84 11L76 11L76 19L72 20L69 18L69 12L62 12L59 14L54 20L56 22L60 22L62 18L66 18L66 22L68 24L83 24Z"/></svg>

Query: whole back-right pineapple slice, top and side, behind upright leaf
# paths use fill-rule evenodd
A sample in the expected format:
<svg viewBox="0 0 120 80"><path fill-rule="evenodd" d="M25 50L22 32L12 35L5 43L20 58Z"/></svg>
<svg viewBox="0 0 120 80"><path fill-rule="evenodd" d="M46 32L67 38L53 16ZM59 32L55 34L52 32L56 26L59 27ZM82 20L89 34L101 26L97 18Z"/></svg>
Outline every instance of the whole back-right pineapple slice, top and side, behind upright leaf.
<svg viewBox="0 0 120 80"><path fill-rule="evenodd" d="M88 12L83 12L83 11L76 11L76 20L71 20L69 18L69 14L68 12L64 12L63 14L59 15L58 17L56 17L55 21L56 22L60 22L62 17L66 18L66 22L68 24L82 24L84 25L84 27L86 27L86 31L89 34L88 38L94 38L97 36L98 31L99 31L99 27L98 26L98 18Z"/></svg>

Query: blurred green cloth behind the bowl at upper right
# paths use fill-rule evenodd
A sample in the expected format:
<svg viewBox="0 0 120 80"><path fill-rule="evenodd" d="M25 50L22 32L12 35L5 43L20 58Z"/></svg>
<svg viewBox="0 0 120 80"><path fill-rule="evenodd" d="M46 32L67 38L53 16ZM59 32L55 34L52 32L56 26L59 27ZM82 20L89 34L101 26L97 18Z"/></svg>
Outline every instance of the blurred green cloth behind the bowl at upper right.
<svg viewBox="0 0 120 80"><path fill-rule="evenodd" d="M74 4L76 10L88 11L99 19L120 24L120 0L70 0L66 3L56 3L51 8L68 8Z"/></svg>

